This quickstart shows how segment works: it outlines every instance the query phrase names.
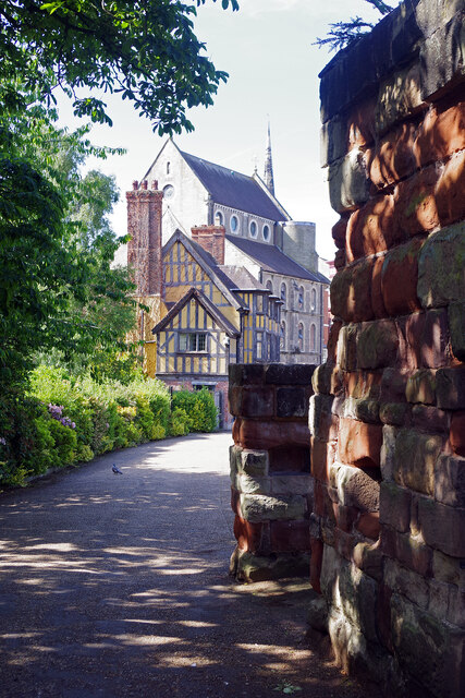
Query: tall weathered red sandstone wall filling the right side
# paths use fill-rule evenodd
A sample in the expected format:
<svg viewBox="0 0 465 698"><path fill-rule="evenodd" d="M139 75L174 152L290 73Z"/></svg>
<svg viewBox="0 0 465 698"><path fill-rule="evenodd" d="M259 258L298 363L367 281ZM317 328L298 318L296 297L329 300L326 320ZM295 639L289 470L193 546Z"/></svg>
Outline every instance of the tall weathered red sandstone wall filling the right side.
<svg viewBox="0 0 465 698"><path fill-rule="evenodd" d="M401 5L321 75L341 219L310 399L310 623L388 696L465 695L463 0Z"/></svg>

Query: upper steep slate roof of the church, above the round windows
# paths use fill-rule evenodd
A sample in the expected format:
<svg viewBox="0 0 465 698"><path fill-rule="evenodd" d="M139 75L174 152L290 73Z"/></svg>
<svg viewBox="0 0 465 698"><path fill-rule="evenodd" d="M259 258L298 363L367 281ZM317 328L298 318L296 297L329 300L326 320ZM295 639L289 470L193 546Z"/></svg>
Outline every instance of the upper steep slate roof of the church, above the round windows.
<svg viewBox="0 0 465 698"><path fill-rule="evenodd" d="M217 204L255 214L270 220L289 220L284 209L253 177L235 172L199 157L181 152L188 166Z"/></svg>

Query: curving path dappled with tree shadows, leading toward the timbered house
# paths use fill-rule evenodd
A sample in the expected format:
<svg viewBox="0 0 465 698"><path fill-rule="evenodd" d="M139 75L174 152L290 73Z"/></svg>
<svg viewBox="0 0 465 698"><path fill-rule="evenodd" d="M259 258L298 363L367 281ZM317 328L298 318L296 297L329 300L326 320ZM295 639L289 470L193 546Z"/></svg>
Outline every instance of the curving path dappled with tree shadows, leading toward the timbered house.
<svg viewBox="0 0 465 698"><path fill-rule="evenodd" d="M150 443L0 495L0 696L366 695L306 646L306 581L228 576L230 443Z"/></svg>

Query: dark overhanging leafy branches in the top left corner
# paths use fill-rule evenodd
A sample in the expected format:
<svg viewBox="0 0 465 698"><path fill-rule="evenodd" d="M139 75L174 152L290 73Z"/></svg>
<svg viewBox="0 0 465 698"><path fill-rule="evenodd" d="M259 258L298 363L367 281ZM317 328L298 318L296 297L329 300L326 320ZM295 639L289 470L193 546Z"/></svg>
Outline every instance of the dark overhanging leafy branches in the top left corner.
<svg viewBox="0 0 465 698"><path fill-rule="evenodd" d="M60 86L76 116L109 124L95 93L120 93L160 135L192 131L185 109L211 105L227 79L193 31L205 1L3 0L0 80L21 74L26 92L39 85L49 104ZM236 0L221 1L238 9Z"/></svg>

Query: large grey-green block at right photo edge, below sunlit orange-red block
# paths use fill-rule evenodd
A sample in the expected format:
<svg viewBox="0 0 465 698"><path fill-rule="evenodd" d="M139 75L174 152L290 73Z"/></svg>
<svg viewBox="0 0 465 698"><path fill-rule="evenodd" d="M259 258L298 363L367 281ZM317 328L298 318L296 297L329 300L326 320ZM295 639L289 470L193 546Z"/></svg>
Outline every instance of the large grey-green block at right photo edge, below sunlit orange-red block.
<svg viewBox="0 0 465 698"><path fill-rule="evenodd" d="M439 308L465 297L465 221L429 236L418 257L418 298Z"/></svg>

